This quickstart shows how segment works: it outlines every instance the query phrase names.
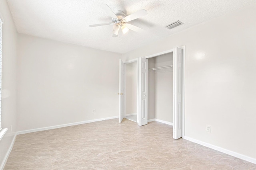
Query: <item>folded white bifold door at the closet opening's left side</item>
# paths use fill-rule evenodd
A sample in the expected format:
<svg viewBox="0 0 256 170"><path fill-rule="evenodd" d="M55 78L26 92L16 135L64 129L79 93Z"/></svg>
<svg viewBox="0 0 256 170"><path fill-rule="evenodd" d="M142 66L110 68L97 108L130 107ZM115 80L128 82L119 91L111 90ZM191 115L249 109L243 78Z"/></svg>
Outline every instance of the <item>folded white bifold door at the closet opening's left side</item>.
<svg viewBox="0 0 256 170"><path fill-rule="evenodd" d="M148 59L139 58L138 124L148 124Z"/></svg>

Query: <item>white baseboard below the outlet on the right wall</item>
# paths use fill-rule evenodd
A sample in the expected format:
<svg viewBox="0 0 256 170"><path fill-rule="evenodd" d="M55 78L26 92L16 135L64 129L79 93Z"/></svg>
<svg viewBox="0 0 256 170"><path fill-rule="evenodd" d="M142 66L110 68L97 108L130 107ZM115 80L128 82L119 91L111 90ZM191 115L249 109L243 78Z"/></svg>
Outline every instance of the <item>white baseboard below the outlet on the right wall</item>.
<svg viewBox="0 0 256 170"><path fill-rule="evenodd" d="M205 147L208 147L208 148L211 148L211 149L214 149L214 150L218 150L218 151L223 152L223 153L225 153L225 154L229 154L229 155L234 156L234 157L236 157L236 158L240 158L240 159L242 159L242 160L246 160L246 161L248 161L248 162L252 162L252 163L256 164L256 159L255 159L255 158L251 158L251 157L249 157L249 156L245 156L245 155L243 155L243 154L239 154L239 153L233 152L233 151L231 151L231 150L227 150L227 149L224 149L224 148L221 148L221 147L217 147L217 146L215 146L215 145L212 145L212 144L209 144L209 143L205 143L205 142L202 142L202 141L193 139L193 138L191 138L191 137L183 136L182 138L183 138L183 139L186 139L186 140L188 140L188 141L197 143L197 144L199 144L199 145L203 145L203 146L205 146Z"/></svg>

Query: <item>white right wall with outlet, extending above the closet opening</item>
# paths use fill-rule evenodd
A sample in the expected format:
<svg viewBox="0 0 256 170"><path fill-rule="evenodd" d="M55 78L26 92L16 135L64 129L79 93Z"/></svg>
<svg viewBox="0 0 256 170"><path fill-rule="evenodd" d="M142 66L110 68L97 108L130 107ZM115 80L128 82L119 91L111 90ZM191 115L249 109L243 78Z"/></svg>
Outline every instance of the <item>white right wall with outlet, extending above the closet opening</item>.
<svg viewBox="0 0 256 170"><path fill-rule="evenodd" d="M256 4L126 53L123 60L182 45L185 136L256 159Z"/></svg>

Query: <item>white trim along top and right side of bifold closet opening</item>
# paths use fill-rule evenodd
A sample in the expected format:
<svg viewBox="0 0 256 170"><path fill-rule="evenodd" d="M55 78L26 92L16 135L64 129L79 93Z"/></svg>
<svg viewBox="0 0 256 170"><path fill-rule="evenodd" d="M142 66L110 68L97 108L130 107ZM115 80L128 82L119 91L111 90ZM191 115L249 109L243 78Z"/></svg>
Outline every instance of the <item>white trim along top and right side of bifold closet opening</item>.
<svg viewBox="0 0 256 170"><path fill-rule="evenodd" d="M180 46L178 48L182 49L182 137L184 137L185 136L185 53L186 53L186 50L185 50L185 45ZM159 55L172 53L173 49L174 48L166 51L161 51L159 53L155 53L152 55L147 55L147 56L144 56L144 58L150 59L152 57L156 57Z"/></svg>

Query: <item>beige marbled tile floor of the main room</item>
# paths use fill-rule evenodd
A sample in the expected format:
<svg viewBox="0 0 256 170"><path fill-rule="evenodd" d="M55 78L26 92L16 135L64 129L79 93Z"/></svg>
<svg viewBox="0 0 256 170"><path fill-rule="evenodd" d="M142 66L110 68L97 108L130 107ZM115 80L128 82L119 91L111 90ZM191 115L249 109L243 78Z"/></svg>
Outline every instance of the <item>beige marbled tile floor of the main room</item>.
<svg viewBox="0 0 256 170"><path fill-rule="evenodd" d="M256 164L174 140L170 125L111 119L18 135L4 169L256 170Z"/></svg>

